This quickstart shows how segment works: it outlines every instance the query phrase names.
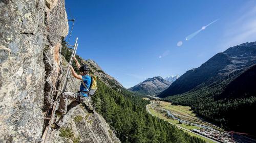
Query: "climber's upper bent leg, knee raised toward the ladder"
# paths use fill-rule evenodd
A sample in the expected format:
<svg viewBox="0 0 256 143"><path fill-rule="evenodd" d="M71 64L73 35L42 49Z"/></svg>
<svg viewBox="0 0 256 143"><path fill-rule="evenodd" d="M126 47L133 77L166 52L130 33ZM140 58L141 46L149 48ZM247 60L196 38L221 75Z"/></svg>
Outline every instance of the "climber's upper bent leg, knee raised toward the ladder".
<svg viewBox="0 0 256 143"><path fill-rule="evenodd" d="M68 106L68 99L72 101L77 101L78 98L77 93L72 93L72 92L65 92L60 95L60 100L59 100L59 108L58 111L62 113L67 112L67 106Z"/></svg>

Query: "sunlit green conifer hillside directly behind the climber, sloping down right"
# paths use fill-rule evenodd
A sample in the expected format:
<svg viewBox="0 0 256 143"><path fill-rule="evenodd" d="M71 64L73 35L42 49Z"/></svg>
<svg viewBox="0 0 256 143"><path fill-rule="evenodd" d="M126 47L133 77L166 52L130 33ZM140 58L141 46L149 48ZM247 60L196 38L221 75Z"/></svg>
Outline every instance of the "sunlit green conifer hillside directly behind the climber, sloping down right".
<svg viewBox="0 0 256 143"><path fill-rule="evenodd" d="M63 46L62 53L65 48L67 47ZM65 56L66 60L69 58L70 53ZM81 64L90 62L80 59L79 56L77 58ZM120 87L109 78L102 81L102 77L99 76L103 75L99 75L98 72L103 71L99 71L93 65L89 66L93 69L91 73L98 78L98 90L92 97L96 111L109 123L121 142L204 142L164 120L151 116L145 107L149 101L134 96L134 93Z"/></svg>

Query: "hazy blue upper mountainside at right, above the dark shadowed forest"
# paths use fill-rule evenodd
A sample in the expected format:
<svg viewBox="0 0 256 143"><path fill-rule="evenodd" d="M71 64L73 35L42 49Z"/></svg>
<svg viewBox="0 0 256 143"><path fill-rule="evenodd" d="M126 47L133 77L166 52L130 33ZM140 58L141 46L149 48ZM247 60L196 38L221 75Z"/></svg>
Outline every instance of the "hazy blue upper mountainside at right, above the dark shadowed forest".
<svg viewBox="0 0 256 143"><path fill-rule="evenodd" d="M188 70L159 97L182 94L203 82L224 78L230 73L242 71L256 64L256 42L247 42L217 53L196 69Z"/></svg>

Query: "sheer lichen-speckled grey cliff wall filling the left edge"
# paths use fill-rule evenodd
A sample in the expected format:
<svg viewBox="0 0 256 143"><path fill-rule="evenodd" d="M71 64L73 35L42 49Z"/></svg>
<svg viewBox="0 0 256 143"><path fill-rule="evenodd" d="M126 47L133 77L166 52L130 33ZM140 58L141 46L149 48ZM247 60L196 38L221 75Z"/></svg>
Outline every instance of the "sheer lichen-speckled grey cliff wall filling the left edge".
<svg viewBox="0 0 256 143"><path fill-rule="evenodd" d="M68 34L65 2L4 0L0 15L0 142L37 142Z"/></svg>

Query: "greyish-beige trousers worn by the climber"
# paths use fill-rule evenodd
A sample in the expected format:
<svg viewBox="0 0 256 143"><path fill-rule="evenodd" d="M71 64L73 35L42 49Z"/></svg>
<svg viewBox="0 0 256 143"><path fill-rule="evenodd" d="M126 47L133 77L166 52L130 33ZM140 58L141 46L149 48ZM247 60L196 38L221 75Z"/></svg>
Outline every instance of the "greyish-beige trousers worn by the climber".
<svg viewBox="0 0 256 143"><path fill-rule="evenodd" d="M72 92L65 92L60 95L59 107L58 111L60 112L67 112L66 115L61 116L56 124L59 127L62 127L66 122L67 119L71 117L73 114L75 107L83 102L87 97L81 96L79 93L72 93ZM68 99L72 102L68 106Z"/></svg>

